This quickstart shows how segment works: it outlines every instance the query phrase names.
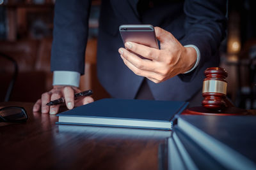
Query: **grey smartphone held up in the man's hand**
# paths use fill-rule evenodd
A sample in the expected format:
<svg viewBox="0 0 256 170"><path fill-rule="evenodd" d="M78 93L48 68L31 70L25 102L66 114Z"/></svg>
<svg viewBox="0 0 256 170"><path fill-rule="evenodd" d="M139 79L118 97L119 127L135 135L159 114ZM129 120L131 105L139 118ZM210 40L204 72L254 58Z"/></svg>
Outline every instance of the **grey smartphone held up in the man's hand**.
<svg viewBox="0 0 256 170"><path fill-rule="evenodd" d="M152 25L120 25L119 31L124 43L131 41L159 49L155 29Z"/></svg>

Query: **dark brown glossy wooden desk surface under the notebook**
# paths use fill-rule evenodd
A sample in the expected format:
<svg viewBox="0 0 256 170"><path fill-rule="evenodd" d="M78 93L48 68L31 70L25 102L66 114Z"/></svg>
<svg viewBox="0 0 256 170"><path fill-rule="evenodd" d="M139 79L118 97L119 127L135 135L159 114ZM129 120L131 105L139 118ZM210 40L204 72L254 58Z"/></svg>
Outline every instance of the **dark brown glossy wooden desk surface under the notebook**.
<svg viewBox="0 0 256 170"><path fill-rule="evenodd" d="M25 124L0 123L0 169L158 169L158 147L170 131L56 125L56 116L23 106Z"/></svg>

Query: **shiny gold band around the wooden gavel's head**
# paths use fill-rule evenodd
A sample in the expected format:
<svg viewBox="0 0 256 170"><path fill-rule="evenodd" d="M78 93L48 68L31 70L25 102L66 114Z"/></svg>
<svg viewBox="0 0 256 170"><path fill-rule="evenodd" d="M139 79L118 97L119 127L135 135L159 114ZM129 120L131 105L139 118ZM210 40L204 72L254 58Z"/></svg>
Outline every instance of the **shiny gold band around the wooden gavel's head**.
<svg viewBox="0 0 256 170"><path fill-rule="evenodd" d="M227 94L227 82L219 80L205 80L203 84L203 93L212 92Z"/></svg>

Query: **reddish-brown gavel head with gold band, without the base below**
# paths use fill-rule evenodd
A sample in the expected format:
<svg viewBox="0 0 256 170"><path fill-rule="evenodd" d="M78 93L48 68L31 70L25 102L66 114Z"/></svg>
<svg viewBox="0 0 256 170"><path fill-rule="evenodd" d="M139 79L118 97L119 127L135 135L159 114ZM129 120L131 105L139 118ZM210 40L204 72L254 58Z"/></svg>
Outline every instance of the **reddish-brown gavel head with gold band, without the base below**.
<svg viewBox="0 0 256 170"><path fill-rule="evenodd" d="M202 95L204 100L202 105L204 108L211 110L220 110L226 107L225 98L227 95L227 78L228 74L221 67L209 67L204 72Z"/></svg>

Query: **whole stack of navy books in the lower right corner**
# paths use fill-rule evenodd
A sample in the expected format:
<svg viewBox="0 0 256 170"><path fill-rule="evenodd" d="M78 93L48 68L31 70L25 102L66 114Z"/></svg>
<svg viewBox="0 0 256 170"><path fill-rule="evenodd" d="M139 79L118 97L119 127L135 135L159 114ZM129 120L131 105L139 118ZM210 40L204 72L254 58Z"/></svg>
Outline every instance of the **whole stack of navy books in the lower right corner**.
<svg viewBox="0 0 256 170"><path fill-rule="evenodd" d="M180 115L168 169L256 169L256 117Z"/></svg>

